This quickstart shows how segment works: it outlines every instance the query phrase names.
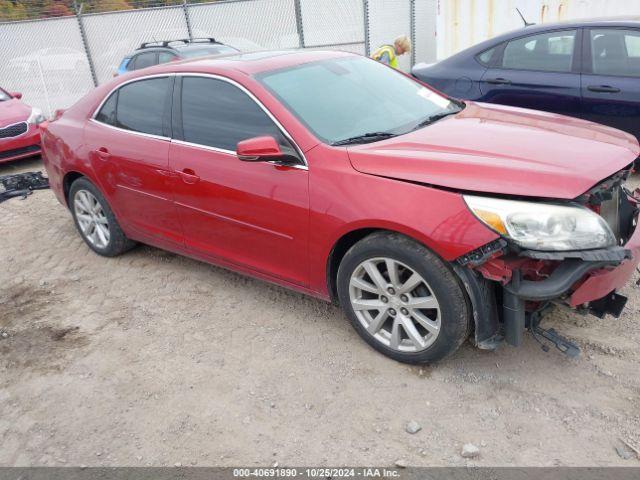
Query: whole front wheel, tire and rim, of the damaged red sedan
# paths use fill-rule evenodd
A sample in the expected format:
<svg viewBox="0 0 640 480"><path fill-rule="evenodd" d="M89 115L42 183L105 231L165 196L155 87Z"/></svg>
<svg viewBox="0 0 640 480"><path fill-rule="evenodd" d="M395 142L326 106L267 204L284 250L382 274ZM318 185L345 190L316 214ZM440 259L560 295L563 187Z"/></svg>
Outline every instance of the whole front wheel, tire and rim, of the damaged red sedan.
<svg viewBox="0 0 640 480"><path fill-rule="evenodd" d="M337 287L358 334L399 362L436 362L469 336L471 306L456 274L404 235L376 232L356 243L340 263Z"/></svg>

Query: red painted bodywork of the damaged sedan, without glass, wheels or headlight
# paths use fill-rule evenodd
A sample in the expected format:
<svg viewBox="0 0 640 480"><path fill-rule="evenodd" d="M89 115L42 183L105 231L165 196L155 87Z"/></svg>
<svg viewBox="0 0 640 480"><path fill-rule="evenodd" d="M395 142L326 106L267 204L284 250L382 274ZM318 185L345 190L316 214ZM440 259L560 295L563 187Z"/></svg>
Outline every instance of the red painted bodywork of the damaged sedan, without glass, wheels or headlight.
<svg viewBox="0 0 640 480"><path fill-rule="evenodd" d="M498 238L456 190L573 198L638 156L637 141L613 129L472 103L407 135L332 147L251 76L347 55L198 59L118 77L49 124L43 150L51 187L66 204L65 177L85 175L130 238L328 299L328 262L345 235L393 230L451 261ZM90 120L120 83L172 72L219 75L244 86L295 140L308 170L242 162Z"/></svg>

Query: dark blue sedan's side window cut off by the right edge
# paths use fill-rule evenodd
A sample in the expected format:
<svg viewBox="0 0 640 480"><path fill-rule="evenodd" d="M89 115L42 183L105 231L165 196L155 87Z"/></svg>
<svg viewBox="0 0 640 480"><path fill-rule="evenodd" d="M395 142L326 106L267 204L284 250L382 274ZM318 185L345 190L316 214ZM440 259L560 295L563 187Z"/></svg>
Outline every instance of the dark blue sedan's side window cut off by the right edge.
<svg viewBox="0 0 640 480"><path fill-rule="evenodd" d="M640 31L591 30L593 73L640 77Z"/></svg>

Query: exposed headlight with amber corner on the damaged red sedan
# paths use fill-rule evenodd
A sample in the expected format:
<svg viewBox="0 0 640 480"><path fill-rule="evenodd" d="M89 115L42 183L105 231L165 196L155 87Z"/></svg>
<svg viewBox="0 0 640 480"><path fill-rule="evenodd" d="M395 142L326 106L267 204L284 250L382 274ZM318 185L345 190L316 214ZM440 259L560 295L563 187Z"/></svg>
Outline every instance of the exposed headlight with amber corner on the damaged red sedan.
<svg viewBox="0 0 640 480"><path fill-rule="evenodd" d="M616 245L607 222L584 207L471 195L464 200L482 223L522 248L569 251Z"/></svg>

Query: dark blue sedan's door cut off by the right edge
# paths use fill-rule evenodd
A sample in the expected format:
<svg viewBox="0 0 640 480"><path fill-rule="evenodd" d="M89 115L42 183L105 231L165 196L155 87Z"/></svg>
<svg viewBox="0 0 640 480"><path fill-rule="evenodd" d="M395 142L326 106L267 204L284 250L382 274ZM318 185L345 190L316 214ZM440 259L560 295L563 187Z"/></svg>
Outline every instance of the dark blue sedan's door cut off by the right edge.
<svg viewBox="0 0 640 480"><path fill-rule="evenodd" d="M640 29L585 29L582 116L640 138Z"/></svg>

